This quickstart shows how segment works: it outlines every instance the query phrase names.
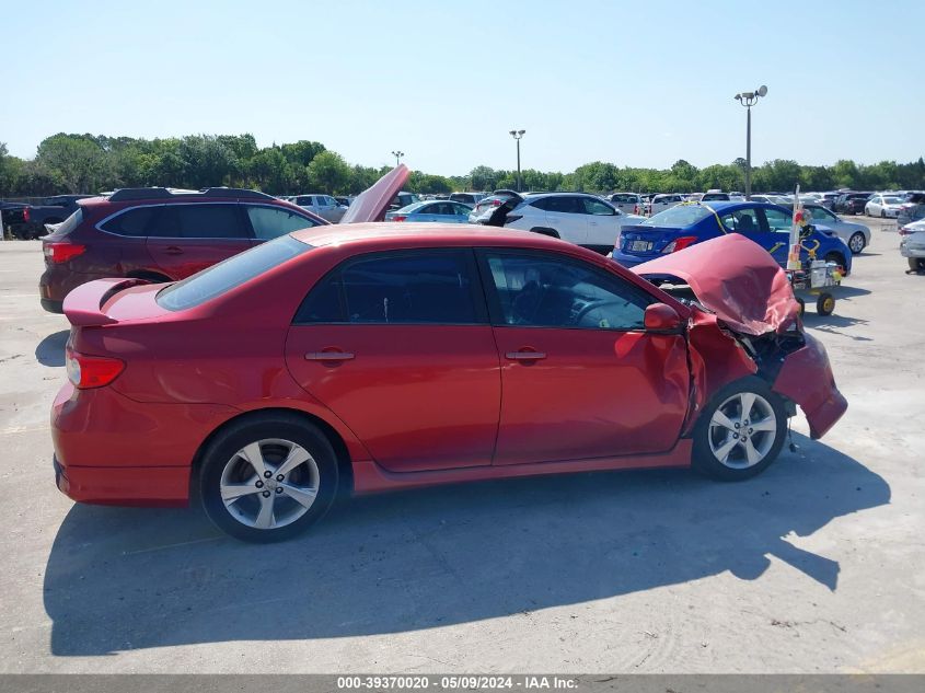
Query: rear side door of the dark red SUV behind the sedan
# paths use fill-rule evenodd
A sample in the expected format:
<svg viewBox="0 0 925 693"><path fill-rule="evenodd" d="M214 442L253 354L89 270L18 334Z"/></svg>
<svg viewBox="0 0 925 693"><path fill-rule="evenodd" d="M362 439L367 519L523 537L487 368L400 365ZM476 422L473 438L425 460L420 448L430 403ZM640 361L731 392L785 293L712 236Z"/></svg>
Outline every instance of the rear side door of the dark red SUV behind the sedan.
<svg viewBox="0 0 925 693"><path fill-rule="evenodd" d="M251 245L251 231L236 203L164 205L148 236L148 252L172 279L196 274Z"/></svg>

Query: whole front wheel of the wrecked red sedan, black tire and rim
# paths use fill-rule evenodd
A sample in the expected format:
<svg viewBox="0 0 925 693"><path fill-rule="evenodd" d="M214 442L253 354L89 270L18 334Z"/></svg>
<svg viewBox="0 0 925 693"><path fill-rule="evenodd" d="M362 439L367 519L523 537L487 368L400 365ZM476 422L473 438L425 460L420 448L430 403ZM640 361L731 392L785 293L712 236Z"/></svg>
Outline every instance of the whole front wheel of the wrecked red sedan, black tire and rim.
<svg viewBox="0 0 925 693"><path fill-rule="evenodd" d="M781 397L761 378L743 378L722 388L704 407L694 427L692 464L724 482L751 478L774 462L786 436Z"/></svg>

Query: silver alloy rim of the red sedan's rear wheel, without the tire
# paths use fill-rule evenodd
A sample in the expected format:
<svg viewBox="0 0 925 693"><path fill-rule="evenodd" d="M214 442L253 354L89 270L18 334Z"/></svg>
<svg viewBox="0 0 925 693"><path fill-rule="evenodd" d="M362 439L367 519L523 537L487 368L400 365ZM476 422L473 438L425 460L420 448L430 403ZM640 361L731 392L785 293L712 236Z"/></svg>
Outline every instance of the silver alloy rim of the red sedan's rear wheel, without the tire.
<svg viewBox="0 0 925 693"><path fill-rule="evenodd" d="M319 492L317 463L300 444L280 438L252 442L226 463L219 482L229 515L258 530L301 518Z"/></svg>

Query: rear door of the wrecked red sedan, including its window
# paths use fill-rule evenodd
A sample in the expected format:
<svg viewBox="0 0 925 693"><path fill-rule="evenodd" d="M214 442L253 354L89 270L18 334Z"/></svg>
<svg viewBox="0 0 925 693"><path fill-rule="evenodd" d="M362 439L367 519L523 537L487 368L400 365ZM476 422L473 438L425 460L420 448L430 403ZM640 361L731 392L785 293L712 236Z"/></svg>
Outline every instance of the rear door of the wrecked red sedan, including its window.
<svg viewBox="0 0 925 693"><path fill-rule="evenodd" d="M501 386L477 277L470 250L361 255L290 328L292 376L389 471L492 463Z"/></svg>

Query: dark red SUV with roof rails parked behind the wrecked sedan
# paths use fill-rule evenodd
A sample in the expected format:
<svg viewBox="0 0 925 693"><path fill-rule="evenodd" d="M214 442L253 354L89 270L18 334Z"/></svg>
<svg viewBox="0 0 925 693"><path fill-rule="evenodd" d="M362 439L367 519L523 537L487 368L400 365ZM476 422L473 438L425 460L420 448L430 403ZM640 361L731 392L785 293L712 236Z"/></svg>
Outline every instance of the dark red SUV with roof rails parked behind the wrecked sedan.
<svg viewBox="0 0 925 693"><path fill-rule="evenodd" d="M124 188L79 200L43 239L42 307L60 313L69 291L106 277L175 281L279 235L328 223L264 193Z"/></svg>

